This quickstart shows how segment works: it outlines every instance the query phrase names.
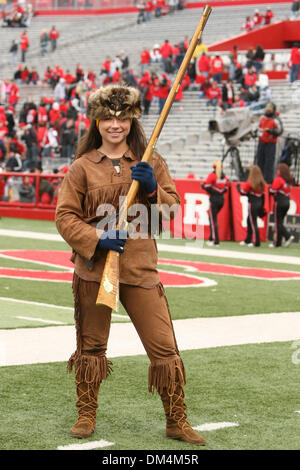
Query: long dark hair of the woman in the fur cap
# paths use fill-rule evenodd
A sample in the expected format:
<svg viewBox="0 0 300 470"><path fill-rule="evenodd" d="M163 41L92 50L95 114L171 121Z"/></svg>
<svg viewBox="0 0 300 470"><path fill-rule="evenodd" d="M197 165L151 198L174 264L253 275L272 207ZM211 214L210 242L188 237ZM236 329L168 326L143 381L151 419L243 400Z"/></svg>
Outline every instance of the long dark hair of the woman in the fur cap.
<svg viewBox="0 0 300 470"><path fill-rule="evenodd" d="M147 147L147 139L144 129L138 119L133 118L130 132L127 136L127 144L135 157L142 159ZM85 153L101 147L102 137L97 128L96 120L92 119L88 131L81 137L76 149L75 159L82 157Z"/></svg>

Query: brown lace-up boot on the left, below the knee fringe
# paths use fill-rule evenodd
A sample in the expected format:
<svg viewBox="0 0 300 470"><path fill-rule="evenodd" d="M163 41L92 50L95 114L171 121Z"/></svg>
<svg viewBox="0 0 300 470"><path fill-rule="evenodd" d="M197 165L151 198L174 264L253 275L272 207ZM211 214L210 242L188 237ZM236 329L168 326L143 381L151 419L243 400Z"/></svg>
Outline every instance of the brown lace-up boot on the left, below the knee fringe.
<svg viewBox="0 0 300 470"><path fill-rule="evenodd" d="M94 385L86 382L76 384L78 419L70 432L78 439L89 437L95 431L99 387L100 384Z"/></svg>

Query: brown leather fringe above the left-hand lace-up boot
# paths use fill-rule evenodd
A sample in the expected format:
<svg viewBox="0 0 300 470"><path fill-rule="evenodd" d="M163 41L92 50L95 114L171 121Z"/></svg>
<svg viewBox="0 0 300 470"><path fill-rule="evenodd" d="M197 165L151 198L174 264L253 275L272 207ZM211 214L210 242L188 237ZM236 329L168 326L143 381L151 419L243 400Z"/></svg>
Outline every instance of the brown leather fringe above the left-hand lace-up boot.
<svg viewBox="0 0 300 470"><path fill-rule="evenodd" d="M92 356L85 354L72 354L68 361L68 372L75 369L75 382L81 382L99 385L102 380L112 372L112 362L108 361L106 356Z"/></svg>

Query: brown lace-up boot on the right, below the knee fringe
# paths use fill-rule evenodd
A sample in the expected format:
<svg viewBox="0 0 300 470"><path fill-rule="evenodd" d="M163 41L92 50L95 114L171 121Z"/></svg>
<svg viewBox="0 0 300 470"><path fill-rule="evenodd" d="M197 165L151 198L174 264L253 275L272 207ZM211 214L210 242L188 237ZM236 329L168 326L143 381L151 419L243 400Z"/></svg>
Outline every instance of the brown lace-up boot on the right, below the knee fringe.
<svg viewBox="0 0 300 470"><path fill-rule="evenodd" d="M165 388L161 394L167 419L166 435L172 439L180 439L190 444L205 446L206 440L187 422L182 385L175 384L171 393Z"/></svg>

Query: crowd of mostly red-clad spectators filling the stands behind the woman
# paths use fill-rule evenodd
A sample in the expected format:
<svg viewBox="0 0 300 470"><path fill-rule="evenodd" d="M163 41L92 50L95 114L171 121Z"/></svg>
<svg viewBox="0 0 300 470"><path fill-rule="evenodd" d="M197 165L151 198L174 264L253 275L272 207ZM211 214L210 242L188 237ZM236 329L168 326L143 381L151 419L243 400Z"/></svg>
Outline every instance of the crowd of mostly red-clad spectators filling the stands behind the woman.
<svg viewBox="0 0 300 470"><path fill-rule="evenodd" d="M55 31L51 39L55 40L53 50L59 32L55 26L51 31ZM49 38L51 31L47 33ZM26 31L21 33L21 42L24 35ZM52 157L71 162L78 137L89 126L88 97L99 85L115 83L139 88L144 116L151 108L160 113L188 45L189 37L184 37L176 44L166 39L162 44L154 44L152 49L142 48L139 70L131 68L124 50L115 57L107 55L98 70L84 70L80 63L75 70L64 70L56 65L48 66L40 76L35 67L18 65L11 79L0 80L2 169L33 171L37 166L45 166ZM22 47L21 51L23 53ZM199 99L205 100L207 106L219 107L222 111L245 106L253 112L265 108L272 99L268 75L264 72L265 52L259 45L256 50L249 49L245 65L239 62L240 55L234 46L229 64L224 63L221 55L209 54L207 46L199 39L175 100L181 101L186 90L197 90ZM291 50L289 67L292 83L300 68L298 44ZM49 85L53 93L51 96L46 93L39 102L28 100L20 106L20 87L28 84L45 85L45 90Z"/></svg>

